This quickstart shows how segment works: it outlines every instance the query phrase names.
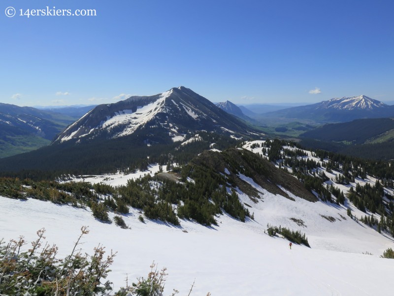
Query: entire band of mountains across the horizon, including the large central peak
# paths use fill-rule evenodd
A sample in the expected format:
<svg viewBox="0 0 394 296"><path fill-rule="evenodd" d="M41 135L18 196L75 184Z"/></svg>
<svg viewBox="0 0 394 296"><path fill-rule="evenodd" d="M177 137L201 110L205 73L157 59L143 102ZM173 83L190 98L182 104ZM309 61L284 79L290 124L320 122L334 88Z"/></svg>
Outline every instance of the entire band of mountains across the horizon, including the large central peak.
<svg viewBox="0 0 394 296"><path fill-rule="evenodd" d="M274 107L283 108L284 106ZM262 111L257 107L253 110ZM252 118L245 112L252 114L250 115ZM199 138L196 136L197 134L205 135L205 145L208 145L209 133L241 140L262 137L260 130L273 136L279 133L279 136L294 138L298 137L302 131L313 129L310 124L349 122L360 118L380 117L394 117L394 106L363 95L335 98L317 104L257 114L248 111L243 106L238 107L230 101L217 103L215 106L183 86L174 87L153 96L132 96L124 101L99 106L38 110L31 107L0 104L0 158L47 146L51 141L53 141L52 146L67 145L60 148L47 148L46 153L51 151L50 153L57 155L65 147L72 150L77 146L80 149L81 145L93 153L92 151L96 151L99 147L112 149L116 141L111 142L111 140L122 138L126 139L117 141L116 149L131 145L141 149L141 155L145 155L143 147L173 145L175 148L181 143L201 139L200 136ZM256 120L261 125L258 127L259 130L256 130ZM263 126L264 120L270 124ZM322 129L305 133L303 141L314 139L327 143L345 141L352 144L392 141L391 132L386 130L389 128L386 123L371 122L357 121L346 126L325 126ZM385 130L382 130L379 124L384 124ZM343 139L341 138L344 131L357 129L357 126L363 127L357 132L346 132ZM386 133L386 136L380 136L382 133ZM327 135L327 139L323 139L323 135ZM357 139L364 139L365 143L349 137L350 135L357 135L359 137ZM373 140L377 137L379 140ZM90 145L95 147L89 147ZM41 150L37 153L43 152ZM75 161L71 159L71 156L79 155L79 153L82 152L70 152L69 162ZM155 155L159 154L157 150ZM39 157L34 157L38 161ZM63 159L62 157L64 156L59 156L59 159ZM86 155L78 156L80 159L86 157ZM47 161L50 160L47 159Z"/></svg>

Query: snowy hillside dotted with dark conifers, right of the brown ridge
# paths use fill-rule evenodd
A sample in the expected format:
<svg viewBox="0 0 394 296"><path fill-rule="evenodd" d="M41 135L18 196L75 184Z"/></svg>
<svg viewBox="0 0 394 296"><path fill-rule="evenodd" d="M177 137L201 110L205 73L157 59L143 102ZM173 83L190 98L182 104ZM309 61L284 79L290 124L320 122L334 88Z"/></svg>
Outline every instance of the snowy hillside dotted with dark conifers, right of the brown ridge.
<svg viewBox="0 0 394 296"><path fill-rule="evenodd" d="M379 232L384 229L394 234L392 161L368 161L325 150L311 152L295 143L279 140L255 141L244 145L244 148L294 175L320 200L345 206L351 202L366 214L361 221L374 225ZM374 219L374 215L379 220Z"/></svg>

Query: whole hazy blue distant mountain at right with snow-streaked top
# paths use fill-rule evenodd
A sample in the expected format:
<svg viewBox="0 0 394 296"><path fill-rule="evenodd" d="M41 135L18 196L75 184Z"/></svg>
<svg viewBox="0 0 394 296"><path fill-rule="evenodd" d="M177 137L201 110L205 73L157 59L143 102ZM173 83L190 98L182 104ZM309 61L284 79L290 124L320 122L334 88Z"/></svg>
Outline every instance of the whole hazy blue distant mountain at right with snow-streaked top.
<svg viewBox="0 0 394 296"><path fill-rule="evenodd" d="M394 106L361 95L335 98L321 103L268 112L266 117L313 119L320 122L346 122L359 118L394 116Z"/></svg>

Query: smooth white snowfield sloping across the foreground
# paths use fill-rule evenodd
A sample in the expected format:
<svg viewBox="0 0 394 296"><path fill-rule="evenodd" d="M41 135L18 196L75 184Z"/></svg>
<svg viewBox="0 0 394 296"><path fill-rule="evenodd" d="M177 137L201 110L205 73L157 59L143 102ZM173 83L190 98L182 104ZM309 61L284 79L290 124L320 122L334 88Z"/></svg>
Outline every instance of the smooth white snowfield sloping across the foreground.
<svg viewBox="0 0 394 296"><path fill-rule="evenodd" d="M131 229L121 229L98 222L90 210L0 197L0 237L8 241L23 235L32 241L36 230L45 227L47 241L59 246L58 257L63 258L71 252L81 226L89 225L90 233L83 238L84 252L92 253L99 243L107 252L118 252L109 274L115 288L125 286L126 275L129 284L146 276L154 260L159 268L167 267L165 295L175 288L186 296L194 281L192 296L207 292L212 296L392 293L394 261L379 255L393 247L393 240L350 219L338 216L341 221L329 222L317 216L323 209L330 216L343 213L323 203L294 202L266 194L264 201L254 206L255 221L242 223L222 215L217 217L219 226L214 227L189 221L181 221L181 227L147 219L142 223L138 212L131 209L124 216ZM307 234L311 249L294 244L290 250L287 240L264 234L267 222L296 229L293 222L279 217L293 214L299 218L313 206L316 215L304 219L307 227L298 227ZM361 254L365 251L374 255Z"/></svg>

